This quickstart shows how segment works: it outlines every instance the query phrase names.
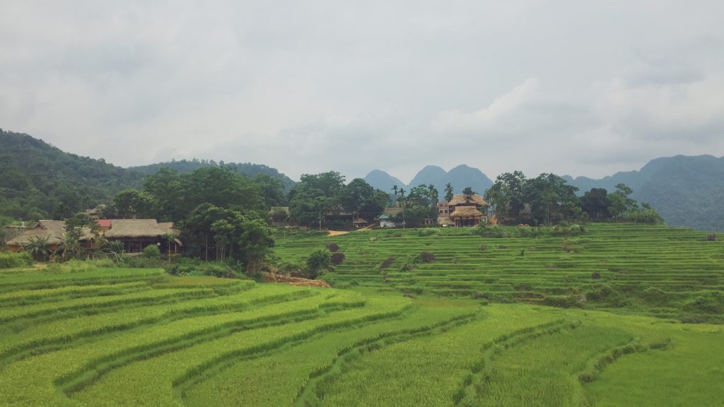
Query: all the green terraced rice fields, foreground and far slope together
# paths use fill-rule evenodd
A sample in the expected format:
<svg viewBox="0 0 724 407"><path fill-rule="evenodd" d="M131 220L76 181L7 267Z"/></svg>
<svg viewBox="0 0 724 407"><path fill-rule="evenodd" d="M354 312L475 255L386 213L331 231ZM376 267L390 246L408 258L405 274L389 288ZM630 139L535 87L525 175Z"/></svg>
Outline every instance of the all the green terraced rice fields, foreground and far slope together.
<svg viewBox="0 0 724 407"><path fill-rule="evenodd" d="M0 270L0 406L724 406L724 325L681 322L720 316L704 301L721 293L720 242L618 225L465 232L277 242L293 262L337 243L345 261L323 277L346 289ZM422 251L435 259L416 264ZM600 285L628 301L544 305ZM654 303L649 287L670 295Z"/></svg>

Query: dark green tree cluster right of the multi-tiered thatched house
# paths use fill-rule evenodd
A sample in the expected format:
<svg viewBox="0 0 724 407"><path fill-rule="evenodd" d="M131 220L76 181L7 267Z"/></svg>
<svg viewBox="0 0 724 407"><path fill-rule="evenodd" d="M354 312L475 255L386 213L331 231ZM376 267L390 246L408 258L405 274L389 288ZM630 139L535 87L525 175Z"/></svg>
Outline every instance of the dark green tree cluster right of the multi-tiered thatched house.
<svg viewBox="0 0 724 407"><path fill-rule="evenodd" d="M663 223L656 209L631 198L633 190L621 183L609 193L592 188L576 196L578 188L562 177L543 173L526 178L523 172L505 172L485 192L485 199L503 225L555 225L566 222Z"/></svg>

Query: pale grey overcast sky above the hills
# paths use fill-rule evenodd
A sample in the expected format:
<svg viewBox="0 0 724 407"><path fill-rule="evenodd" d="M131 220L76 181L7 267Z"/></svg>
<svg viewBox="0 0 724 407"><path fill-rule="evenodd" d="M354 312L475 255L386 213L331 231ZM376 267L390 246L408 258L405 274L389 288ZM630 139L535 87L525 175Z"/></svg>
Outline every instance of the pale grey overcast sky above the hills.
<svg viewBox="0 0 724 407"><path fill-rule="evenodd" d="M724 154L724 2L0 0L0 127L124 167L601 177Z"/></svg>

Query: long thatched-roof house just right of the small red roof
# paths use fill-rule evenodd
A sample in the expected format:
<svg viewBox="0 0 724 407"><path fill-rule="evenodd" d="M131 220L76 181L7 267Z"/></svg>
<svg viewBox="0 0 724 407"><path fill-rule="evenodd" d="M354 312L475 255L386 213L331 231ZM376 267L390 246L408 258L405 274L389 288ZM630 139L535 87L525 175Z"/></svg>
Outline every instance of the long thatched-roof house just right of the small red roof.
<svg viewBox="0 0 724 407"><path fill-rule="evenodd" d="M110 225L103 235L111 241L123 243L125 253L140 253L151 245L159 246L161 253L180 253L182 243L179 230L173 222L156 222L156 219L101 219L99 225ZM101 224L101 222L104 222Z"/></svg>

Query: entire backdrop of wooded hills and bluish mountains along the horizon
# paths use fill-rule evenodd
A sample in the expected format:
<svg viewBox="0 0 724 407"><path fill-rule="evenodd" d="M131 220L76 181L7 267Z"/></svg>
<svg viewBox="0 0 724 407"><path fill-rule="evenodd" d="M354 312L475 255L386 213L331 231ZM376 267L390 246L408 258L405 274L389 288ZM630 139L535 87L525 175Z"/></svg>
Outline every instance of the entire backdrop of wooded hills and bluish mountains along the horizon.
<svg viewBox="0 0 724 407"><path fill-rule="evenodd" d="M141 188L146 175L161 167L191 172L218 165L233 167L249 177L259 173L277 177L287 191L295 184L286 175L263 164L181 160L126 169L103 159L66 153L30 135L0 129L0 217L62 217L109 201L124 188ZM654 206L668 225L724 231L724 157L665 157L650 161L639 171L617 172L600 180L564 178L578 187L580 194L591 188L613 191L616 184L623 182L633 189L633 198ZM449 172L429 165L421 169L410 184L380 170L370 172L365 180L387 193L392 193L392 185L409 190L432 184L441 196L448 182L455 193L461 193L466 187L484 193L493 184L479 169L467 165ZM68 202L75 204L68 206Z"/></svg>

